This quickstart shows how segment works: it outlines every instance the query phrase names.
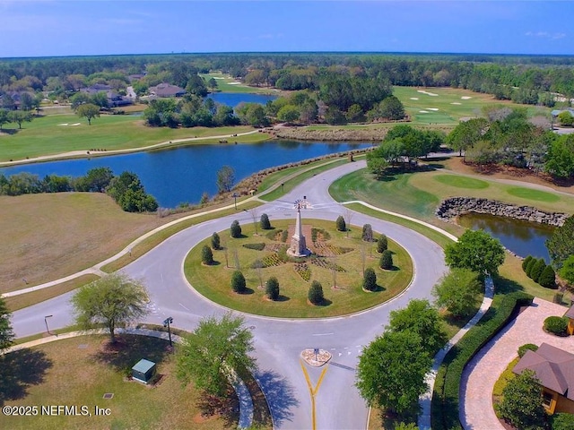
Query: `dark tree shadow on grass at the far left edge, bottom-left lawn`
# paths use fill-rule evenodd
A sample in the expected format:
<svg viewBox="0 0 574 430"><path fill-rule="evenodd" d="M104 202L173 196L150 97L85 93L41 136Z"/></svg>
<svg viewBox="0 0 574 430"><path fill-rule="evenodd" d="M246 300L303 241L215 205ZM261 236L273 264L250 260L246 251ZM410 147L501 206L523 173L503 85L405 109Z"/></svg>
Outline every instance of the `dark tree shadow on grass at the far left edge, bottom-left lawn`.
<svg viewBox="0 0 574 430"><path fill-rule="evenodd" d="M6 400L20 400L28 395L30 385L44 382L52 361L46 353L35 349L21 349L0 356L0 406Z"/></svg>

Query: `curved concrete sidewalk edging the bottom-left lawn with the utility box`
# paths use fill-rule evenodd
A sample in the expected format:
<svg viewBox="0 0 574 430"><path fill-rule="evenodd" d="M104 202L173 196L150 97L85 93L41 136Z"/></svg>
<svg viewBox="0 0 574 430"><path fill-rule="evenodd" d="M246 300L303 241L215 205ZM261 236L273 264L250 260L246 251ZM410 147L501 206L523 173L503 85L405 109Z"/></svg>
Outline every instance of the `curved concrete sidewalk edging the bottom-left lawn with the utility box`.
<svg viewBox="0 0 574 430"><path fill-rule="evenodd" d="M148 329L117 329L117 334L127 333L136 334L140 336L150 336L153 338L159 338L162 340L169 340L169 334L165 331L155 331ZM70 331L62 334L55 334L49 336L48 338L40 338L37 340L30 340L30 342L21 343L19 345L14 345L12 348L6 349L2 354L8 354L13 351L18 351L24 348L36 347L39 345L44 345L45 343L55 342L57 340L65 340L70 338L75 338L78 336L85 336L87 334L109 334L109 331L105 329L91 330L91 331ZM174 342L181 343L183 338L177 334L172 334L171 339ZM230 379L237 397L239 398L239 428L247 428L253 423L253 399L251 398L251 393L248 390L247 385L239 378L237 374L233 374Z"/></svg>

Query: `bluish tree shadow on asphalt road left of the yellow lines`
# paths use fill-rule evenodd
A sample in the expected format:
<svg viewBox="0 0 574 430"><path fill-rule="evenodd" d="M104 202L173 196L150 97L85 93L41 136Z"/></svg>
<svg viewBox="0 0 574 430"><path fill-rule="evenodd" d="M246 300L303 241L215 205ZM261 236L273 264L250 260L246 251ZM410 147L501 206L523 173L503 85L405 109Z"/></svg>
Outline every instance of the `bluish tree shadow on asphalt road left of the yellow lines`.
<svg viewBox="0 0 574 430"><path fill-rule="evenodd" d="M281 427L283 421L291 421L292 409L299 406L299 400L295 399L291 384L283 376L274 373L273 370L266 370L265 372L257 370L255 377L265 392L274 425Z"/></svg>

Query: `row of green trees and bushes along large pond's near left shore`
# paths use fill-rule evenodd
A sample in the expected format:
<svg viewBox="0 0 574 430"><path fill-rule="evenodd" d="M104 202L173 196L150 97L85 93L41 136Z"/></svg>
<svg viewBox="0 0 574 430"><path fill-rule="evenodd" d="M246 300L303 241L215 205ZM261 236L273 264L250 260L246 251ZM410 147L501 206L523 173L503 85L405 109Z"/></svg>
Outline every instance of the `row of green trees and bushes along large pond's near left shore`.
<svg viewBox="0 0 574 430"><path fill-rule="evenodd" d="M145 193L139 177L131 172L114 176L110 168L92 168L85 176L47 175L43 179L27 172L9 177L0 175L1 195L71 191L108 193L127 212L152 212L158 209L158 202Z"/></svg>

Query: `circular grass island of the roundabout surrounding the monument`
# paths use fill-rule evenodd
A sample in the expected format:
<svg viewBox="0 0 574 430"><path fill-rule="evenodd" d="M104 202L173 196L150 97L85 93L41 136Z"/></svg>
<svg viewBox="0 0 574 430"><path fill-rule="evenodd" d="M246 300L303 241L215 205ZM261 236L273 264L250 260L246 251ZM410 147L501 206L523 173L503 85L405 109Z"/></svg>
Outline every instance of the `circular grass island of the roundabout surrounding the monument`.
<svg viewBox="0 0 574 430"><path fill-rule="evenodd" d="M276 233L280 229L288 228L289 224L294 224L294 219L292 221L276 221L272 224L275 228L272 231ZM318 280L323 286L326 297L324 305L308 304L307 294L310 281L305 280L300 275L300 271L303 271L304 268L300 267L300 271L296 271L296 265L292 262L261 270L263 284L271 276L277 277L280 284L280 300L272 302L265 298L265 288L260 287L257 270L252 269L251 264L256 260L265 260L265 258L273 260L274 251L269 249L257 251L248 249L243 245L265 243L268 246L280 247L285 244L278 238L275 240L266 236L269 230L259 230L259 236L254 236L255 230L252 225L242 226L245 237L238 239L230 238L229 230L219 233L222 238L222 246L226 250L213 251L213 259L216 263L212 266L205 266L201 263L201 248L203 245L210 244L209 239L192 249L187 255L184 266L187 280L205 297L231 309L249 314L309 318L351 314L378 305L403 291L413 278L413 262L410 257L403 247L390 240L389 249L395 253L393 259L396 270L382 271L378 269L376 244L372 244L372 248L370 248L369 244L361 241L360 227L353 226L350 237L346 237L344 232L335 231L335 219L333 222L303 219L303 225L325 228L331 236L326 242L328 245L335 246L339 251L346 248L344 254L338 254L336 257L324 260L336 264L343 270L336 274L337 288L332 288L334 285L332 271L309 262L309 259L305 261L307 270L310 271L309 280ZM289 245L290 240L290 238L287 239L287 245ZM311 238L308 237L307 240L309 244ZM373 293L364 292L361 288L361 246L364 246L366 267L376 268L380 288ZM238 295L230 288L230 277L236 267L236 253L239 267L247 280L248 294ZM226 254L228 264L226 264ZM226 265L232 268L227 268Z"/></svg>

